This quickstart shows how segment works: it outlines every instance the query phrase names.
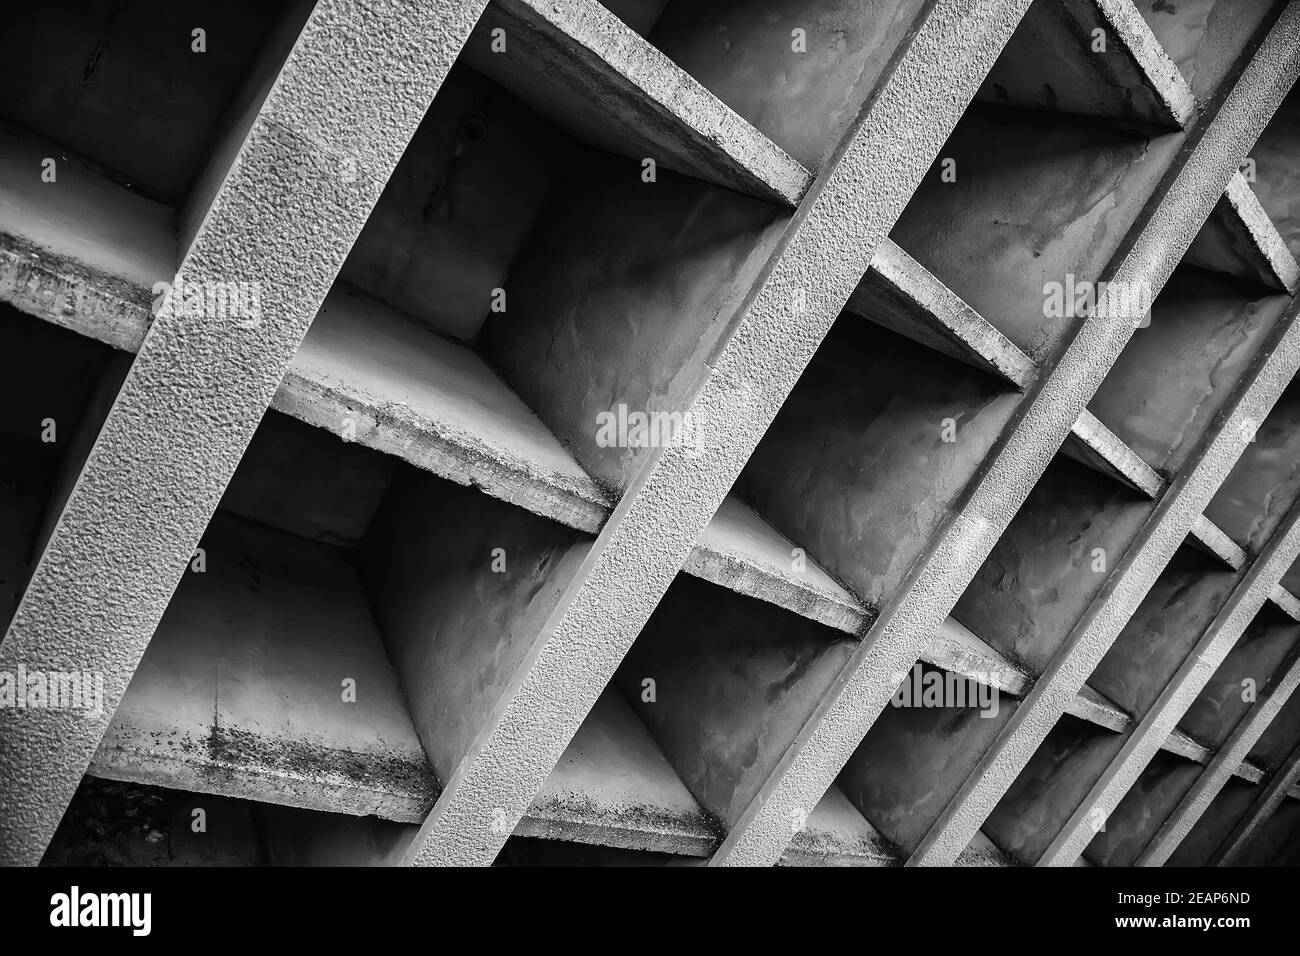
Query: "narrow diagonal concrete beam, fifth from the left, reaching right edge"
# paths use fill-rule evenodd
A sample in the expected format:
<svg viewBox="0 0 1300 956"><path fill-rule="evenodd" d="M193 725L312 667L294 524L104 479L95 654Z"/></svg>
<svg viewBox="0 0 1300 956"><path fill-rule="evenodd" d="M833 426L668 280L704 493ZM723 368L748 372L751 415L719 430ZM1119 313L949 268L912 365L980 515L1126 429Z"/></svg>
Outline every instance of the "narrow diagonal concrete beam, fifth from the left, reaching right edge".
<svg viewBox="0 0 1300 956"><path fill-rule="evenodd" d="M1104 821L1119 805L1141 771L1174 732L1183 714L1264 607L1269 592L1287 572L1296 555L1300 555L1300 507L1291 510L1282 528L1251 563L1223 607L1205 628L1160 697L1143 715L1123 748L1048 845L1039 861L1040 865L1070 866L1079 858L1096 834L1096 823ZM1242 769L1244 767L1239 767Z"/></svg>

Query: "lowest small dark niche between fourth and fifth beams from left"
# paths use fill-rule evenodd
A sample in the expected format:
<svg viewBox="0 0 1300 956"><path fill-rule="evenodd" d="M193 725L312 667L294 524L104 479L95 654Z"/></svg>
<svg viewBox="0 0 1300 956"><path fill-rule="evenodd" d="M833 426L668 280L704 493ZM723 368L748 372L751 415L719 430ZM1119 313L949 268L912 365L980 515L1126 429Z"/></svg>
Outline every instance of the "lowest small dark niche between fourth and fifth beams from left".
<svg viewBox="0 0 1300 956"><path fill-rule="evenodd" d="M1123 743L1123 735L1062 714L984 821L984 832L1015 861L1036 864Z"/></svg>

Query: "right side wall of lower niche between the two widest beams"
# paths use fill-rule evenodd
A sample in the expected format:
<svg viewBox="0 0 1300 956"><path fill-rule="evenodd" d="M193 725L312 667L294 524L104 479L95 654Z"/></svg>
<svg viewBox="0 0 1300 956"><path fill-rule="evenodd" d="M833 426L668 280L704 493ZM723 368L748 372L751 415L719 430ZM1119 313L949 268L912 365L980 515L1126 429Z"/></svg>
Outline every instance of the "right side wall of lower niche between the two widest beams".
<svg viewBox="0 0 1300 956"><path fill-rule="evenodd" d="M589 538L403 467L358 555L416 731L446 780L533 649Z"/></svg>

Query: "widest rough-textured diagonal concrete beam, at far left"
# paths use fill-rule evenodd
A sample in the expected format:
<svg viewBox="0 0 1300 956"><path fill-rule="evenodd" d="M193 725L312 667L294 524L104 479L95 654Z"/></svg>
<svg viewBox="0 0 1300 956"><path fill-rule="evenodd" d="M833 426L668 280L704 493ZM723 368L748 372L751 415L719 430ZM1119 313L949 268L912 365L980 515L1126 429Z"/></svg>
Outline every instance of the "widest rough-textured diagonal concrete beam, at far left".
<svg viewBox="0 0 1300 956"><path fill-rule="evenodd" d="M196 319L169 294L81 470L0 644L0 671L103 674L105 706L0 709L0 864L40 861L289 360L485 1L320 0L247 127L200 178L179 287L247 282L260 319Z"/></svg>

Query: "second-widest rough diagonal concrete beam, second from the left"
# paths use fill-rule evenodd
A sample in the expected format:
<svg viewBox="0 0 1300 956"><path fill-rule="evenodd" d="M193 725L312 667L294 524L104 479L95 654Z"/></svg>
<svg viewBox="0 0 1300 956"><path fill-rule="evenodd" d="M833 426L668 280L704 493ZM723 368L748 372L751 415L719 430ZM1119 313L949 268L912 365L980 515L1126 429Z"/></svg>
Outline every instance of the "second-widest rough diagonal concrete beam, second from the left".
<svg viewBox="0 0 1300 956"><path fill-rule="evenodd" d="M1028 0L940 0L812 186L690 407L697 457L634 480L406 860L488 864L523 817L866 273ZM936 72L933 64L945 69ZM918 104L926 104L918 111ZM937 624L940 622L935 622ZM927 631L928 635L931 631Z"/></svg>

